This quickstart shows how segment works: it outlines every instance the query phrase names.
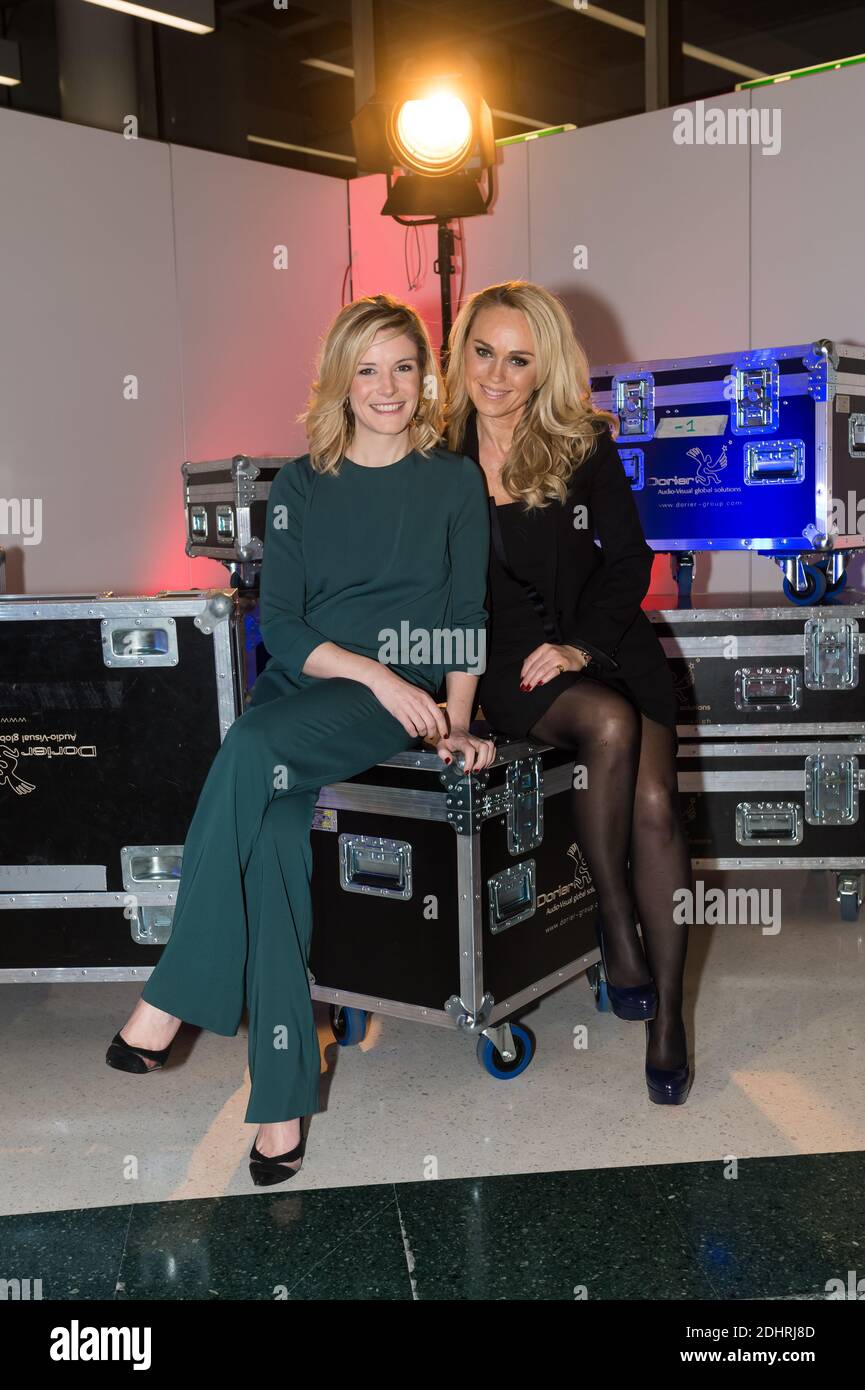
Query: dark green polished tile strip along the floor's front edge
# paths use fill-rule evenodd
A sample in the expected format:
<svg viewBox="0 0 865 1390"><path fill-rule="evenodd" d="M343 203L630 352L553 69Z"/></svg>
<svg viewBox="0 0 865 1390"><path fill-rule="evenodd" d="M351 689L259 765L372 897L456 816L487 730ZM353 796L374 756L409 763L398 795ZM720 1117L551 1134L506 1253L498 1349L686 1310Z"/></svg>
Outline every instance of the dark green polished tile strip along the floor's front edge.
<svg viewBox="0 0 865 1390"><path fill-rule="evenodd" d="M43 1212L0 1251L46 1300L825 1298L865 1276L865 1154Z"/></svg>

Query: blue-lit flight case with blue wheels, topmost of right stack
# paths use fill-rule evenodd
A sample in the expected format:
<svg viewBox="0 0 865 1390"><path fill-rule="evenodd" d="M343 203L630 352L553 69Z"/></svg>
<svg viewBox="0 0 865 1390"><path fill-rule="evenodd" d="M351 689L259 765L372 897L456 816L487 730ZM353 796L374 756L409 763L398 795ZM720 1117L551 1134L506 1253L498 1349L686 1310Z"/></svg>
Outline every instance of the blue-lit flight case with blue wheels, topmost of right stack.
<svg viewBox="0 0 865 1390"><path fill-rule="evenodd" d="M794 602L865 549L865 348L820 338L592 368L655 550L772 556Z"/></svg>

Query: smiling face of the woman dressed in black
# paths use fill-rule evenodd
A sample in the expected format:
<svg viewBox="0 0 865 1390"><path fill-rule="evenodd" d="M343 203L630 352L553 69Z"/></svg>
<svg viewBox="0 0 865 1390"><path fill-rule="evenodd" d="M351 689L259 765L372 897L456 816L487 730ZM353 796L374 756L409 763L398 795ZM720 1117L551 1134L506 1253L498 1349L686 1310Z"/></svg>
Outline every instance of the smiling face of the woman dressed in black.
<svg viewBox="0 0 865 1390"><path fill-rule="evenodd" d="M537 386L537 361L528 321L519 309L481 309L466 339L466 391L481 416L522 414Z"/></svg>

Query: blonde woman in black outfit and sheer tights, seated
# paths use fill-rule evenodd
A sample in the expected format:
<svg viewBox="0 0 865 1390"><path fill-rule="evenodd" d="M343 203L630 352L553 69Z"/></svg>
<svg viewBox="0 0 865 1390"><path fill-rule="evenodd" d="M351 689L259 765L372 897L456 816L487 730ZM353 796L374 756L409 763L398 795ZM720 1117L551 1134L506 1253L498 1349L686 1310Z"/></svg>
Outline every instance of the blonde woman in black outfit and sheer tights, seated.
<svg viewBox="0 0 865 1390"><path fill-rule="evenodd" d="M573 824L598 894L611 1005L645 1019L649 1098L676 1105L691 1073L687 927L673 894L693 888L676 696L641 609L654 555L611 425L553 295L510 281L467 300L449 339L448 446L480 464L490 493L480 702L498 733L573 752L587 769Z"/></svg>

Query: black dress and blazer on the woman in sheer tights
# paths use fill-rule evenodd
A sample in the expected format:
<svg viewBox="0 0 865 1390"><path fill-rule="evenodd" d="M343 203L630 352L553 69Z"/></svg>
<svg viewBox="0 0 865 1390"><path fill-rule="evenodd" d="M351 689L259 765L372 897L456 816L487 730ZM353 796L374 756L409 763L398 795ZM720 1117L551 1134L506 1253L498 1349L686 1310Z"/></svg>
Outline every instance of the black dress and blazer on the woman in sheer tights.
<svg viewBox="0 0 865 1390"><path fill-rule="evenodd" d="M480 466L474 413L460 452ZM601 681L670 728L677 746L673 673L641 607L654 552L606 425L594 453L572 475L565 503L552 500L530 510L522 502L496 506L490 499L490 506L496 507L510 570L535 587L562 644L592 656L590 670L563 671L533 691L520 691L523 662L549 638L526 589L508 575L491 546L487 670L478 699L494 730L524 738L573 681Z"/></svg>

